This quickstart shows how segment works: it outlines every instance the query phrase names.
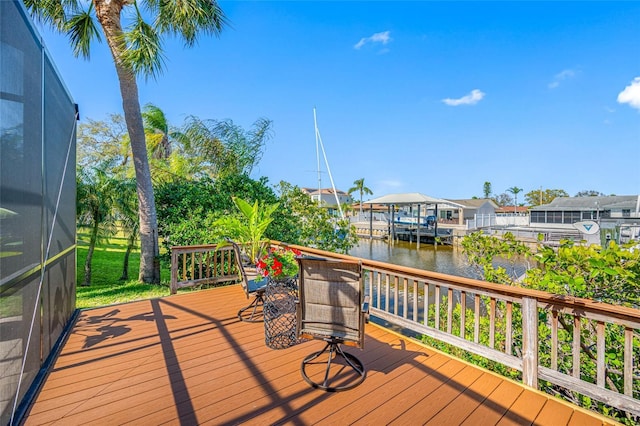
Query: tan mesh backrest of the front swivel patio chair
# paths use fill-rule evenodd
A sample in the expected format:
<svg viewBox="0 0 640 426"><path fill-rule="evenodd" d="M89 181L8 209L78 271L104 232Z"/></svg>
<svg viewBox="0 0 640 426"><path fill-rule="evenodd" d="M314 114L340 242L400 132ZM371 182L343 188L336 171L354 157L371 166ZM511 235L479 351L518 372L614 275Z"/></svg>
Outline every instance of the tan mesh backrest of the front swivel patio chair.
<svg viewBox="0 0 640 426"><path fill-rule="evenodd" d="M364 347L362 264L299 258L298 335Z"/></svg>

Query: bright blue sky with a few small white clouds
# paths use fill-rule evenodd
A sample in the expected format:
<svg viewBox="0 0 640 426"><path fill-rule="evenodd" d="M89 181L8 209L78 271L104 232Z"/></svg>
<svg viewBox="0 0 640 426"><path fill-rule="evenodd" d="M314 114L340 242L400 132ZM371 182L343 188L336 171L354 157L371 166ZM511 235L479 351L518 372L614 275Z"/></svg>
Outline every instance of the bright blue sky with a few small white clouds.
<svg viewBox="0 0 640 426"><path fill-rule="evenodd" d="M230 27L191 49L167 40L140 99L173 125L273 120L253 177L318 186L315 107L338 189L640 194L640 2L220 5ZM82 118L121 112L106 44L87 62L41 32Z"/></svg>

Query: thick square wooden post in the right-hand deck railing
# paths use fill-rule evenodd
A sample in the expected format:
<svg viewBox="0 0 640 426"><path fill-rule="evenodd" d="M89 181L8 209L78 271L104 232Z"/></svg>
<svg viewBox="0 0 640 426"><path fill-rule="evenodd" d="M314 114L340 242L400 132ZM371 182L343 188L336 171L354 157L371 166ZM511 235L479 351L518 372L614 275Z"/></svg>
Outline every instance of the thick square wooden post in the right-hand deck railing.
<svg viewBox="0 0 640 426"><path fill-rule="evenodd" d="M522 382L538 388L538 301L522 298Z"/></svg>

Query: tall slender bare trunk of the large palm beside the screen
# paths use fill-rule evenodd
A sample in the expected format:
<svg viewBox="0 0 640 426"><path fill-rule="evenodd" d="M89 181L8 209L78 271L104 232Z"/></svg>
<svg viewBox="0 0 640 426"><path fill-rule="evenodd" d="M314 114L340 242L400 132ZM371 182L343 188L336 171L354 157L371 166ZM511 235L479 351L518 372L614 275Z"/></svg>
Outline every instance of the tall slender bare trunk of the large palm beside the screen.
<svg viewBox="0 0 640 426"><path fill-rule="evenodd" d="M124 66L122 62L122 52L125 46L120 24L120 12L126 4L126 0L94 0L94 4L96 15L104 30L107 44L116 65L124 118L127 123L129 140L131 141L140 217L139 279L147 283L159 283L160 250L158 246L156 205L138 97L138 84L133 70Z"/></svg>

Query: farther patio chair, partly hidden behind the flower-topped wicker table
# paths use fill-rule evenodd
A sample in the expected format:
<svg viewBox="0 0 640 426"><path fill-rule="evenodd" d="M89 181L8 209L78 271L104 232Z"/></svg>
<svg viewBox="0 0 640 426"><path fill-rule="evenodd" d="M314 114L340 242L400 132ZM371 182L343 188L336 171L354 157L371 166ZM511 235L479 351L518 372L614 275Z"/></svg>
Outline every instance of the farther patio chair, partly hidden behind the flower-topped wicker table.
<svg viewBox="0 0 640 426"><path fill-rule="evenodd" d="M240 284L247 299L253 297L250 304L238 311L238 319L246 322L262 322L264 321L264 291L267 286L267 280L260 276L255 266L251 265L249 257L242 252L240 246L233 240L227 238L228 243L233 246L238 271L240 273ZM245 315L244 312L251 309L251 315Z"/></svg>

